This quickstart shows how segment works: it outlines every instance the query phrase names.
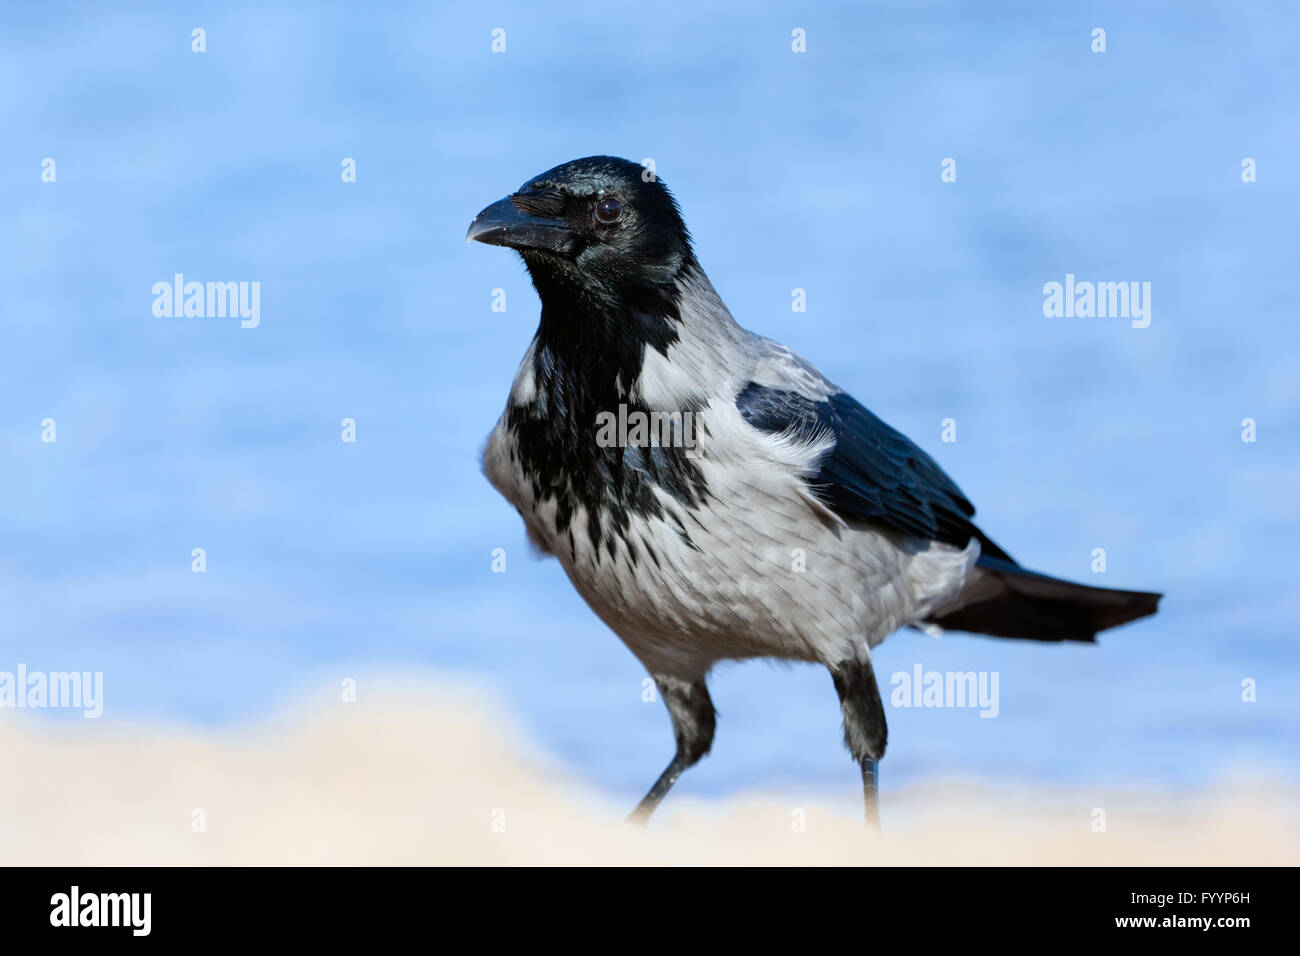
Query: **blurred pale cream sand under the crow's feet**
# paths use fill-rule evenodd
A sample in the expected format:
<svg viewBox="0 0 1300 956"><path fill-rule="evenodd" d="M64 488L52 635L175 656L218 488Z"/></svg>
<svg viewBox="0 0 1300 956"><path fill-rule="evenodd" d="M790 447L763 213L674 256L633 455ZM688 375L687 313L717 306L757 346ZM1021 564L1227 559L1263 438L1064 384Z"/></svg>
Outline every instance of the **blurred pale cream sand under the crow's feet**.
<svg viewBox="0 0 1300 956"><path fill-rule="evenodd" d="M317 696L221 732L0 711L0 864L1300 862L1296 790L1240 779L1101 799L936 783L887 791L883 835L852 795L833 810L670 797L637 830L628 808L521 756L526 736L481 698L389 687L382 700Z"/></svg>

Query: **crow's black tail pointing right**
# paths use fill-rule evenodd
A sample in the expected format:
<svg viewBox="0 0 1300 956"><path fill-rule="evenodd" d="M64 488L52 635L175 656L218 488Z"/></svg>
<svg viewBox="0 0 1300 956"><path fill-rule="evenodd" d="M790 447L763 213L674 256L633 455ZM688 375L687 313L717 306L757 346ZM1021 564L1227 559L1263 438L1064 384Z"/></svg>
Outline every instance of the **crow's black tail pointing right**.
<svg viewBox="0 0 1300 956"><path fill-rule="evenodd" d="M1093 641L1097 631L1156 613L1162 594L1089 588L980 555L961 596L931 623L1035 641Z"/></svg>

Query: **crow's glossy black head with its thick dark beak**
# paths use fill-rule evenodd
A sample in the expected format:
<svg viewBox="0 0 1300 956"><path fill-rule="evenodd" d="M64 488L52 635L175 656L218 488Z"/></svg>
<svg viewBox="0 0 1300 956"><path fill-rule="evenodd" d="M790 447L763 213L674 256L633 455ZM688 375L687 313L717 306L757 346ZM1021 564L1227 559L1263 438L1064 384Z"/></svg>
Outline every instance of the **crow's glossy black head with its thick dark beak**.
<svg viewBox="0 0 1300 956"><path fill-rule="evenodd" d="M469 225L477 239L517 250L542 297L629 303L667 293L693 261L690 235L655 174L614 156L549 169Z"/></svg>

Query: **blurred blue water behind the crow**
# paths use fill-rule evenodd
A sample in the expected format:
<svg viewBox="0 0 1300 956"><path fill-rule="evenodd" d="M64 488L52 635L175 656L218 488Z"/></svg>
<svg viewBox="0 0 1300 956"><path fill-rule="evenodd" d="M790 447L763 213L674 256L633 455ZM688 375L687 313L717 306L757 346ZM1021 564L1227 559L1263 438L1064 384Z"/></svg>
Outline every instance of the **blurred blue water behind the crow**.
<svg viewBox="0 0 1300 956"><path fill-rule="evenodd" d="M463 242L532 174L608 152L655 160L742 324L930 450L1022 562L1167 592L1100 646L890 639L879 672L997 671L1001 701L892 710L887 786L1300 774L1294 5L48 4L0 23L0 670L101 670L104 721L216 724L321 680L452 672L637 795L670 756L662 706L478 473L537 302L512 256ZM155 317L177 272L259 281L260 326ZM1045 319L1066 273L1152 282L1150 326ZM850 792L824 672L728 667L714 697L684 790Z"/></svg>

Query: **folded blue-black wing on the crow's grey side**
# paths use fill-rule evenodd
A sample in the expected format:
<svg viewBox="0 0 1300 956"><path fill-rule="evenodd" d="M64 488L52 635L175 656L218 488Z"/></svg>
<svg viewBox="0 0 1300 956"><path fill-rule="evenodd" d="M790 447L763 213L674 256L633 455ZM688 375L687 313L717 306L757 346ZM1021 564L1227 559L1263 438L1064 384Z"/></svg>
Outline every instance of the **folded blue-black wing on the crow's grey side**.
<svg viewBox="0 0 1300 956"><path fill-rule="evenodd" d="M736 407L764 432L835 436L835 447L822 457L809 483L840 516L958 548L975 537L983 554L1011 561L975 527L975 506L935 459L852 395L838 392L819 402L750 382L736 397Z"/></svg>

